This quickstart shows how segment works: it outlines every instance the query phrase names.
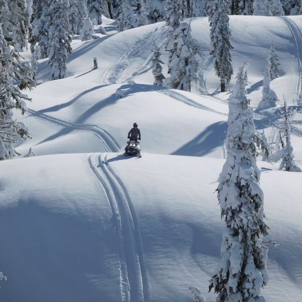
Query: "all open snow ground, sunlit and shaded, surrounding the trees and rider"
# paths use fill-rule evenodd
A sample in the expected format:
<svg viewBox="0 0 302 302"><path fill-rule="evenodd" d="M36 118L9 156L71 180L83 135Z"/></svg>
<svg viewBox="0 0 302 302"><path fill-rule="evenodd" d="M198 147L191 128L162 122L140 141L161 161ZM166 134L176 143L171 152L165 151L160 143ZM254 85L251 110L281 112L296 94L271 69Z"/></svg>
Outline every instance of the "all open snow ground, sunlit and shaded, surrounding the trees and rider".
<svg viewBox="0 0 302 302"><path fill-rule="evenodd" d="M255 108L272 41L282 75L271 88L298 110L302 105L302 18L290 19L294 24L231 16L234 71L249 61ZM36 157L0 163L4 301L189 302L187 286L215 300L207 288L224 226L215 189L225 157L229 93L216 93L207 19L191 22L205 54L195 93L152 86L149 58L153 43L164 53L163 23L114 35L115 25L105 19L110 35L97 32L97 40L74 38L67 79L47 82L49 66L41 60L40 84L28 92L30 110L15 115L33 137L18 152L32 147ZM94 57L99 69L92 71ZM162 58L167 63L167 55ZM123 98L117 99L117 90ZM276 113L255 112L257 129L273 135ZM133 122L142 133L141 159L121 155ZM297 164L300 128L297 113ZM260 161L258 166L271 228L266 241L277 243L268 244L270 280L263 293L268 302L296 302L302 296L302 174Z"/></svg>

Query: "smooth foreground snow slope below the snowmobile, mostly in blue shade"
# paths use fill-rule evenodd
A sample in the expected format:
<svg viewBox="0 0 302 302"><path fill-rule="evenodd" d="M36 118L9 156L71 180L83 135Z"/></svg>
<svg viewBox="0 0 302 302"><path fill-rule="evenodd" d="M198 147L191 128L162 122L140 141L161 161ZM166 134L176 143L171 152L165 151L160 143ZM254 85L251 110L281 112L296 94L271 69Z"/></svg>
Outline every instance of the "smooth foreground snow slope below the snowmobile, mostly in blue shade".
<svg viewBox="0 0 302 302"><path fill-rule="evenodd" d="M127 301L130 292L131 301L189 302L186 286L214 300L207 285L223 228L214 192L223 160L78 154L1 164L2 300ZM279 244L270 246L264 294L297 301L302 174L259 167L269 239Z"/></svg>

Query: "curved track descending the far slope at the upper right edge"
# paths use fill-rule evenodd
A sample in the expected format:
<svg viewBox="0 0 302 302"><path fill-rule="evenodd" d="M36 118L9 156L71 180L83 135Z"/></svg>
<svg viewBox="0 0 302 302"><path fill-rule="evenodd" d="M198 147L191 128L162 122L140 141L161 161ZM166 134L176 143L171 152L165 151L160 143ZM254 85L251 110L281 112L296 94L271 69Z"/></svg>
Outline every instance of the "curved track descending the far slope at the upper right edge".
<svg viewBox="0 0 302 302"><path fill-rule="evenodd" d="M298 81L297 81L297 103L298 105L302 104L302 92L301 92L301 77L302 77L302 65L300 54L302 55L302 34L298 26L287 17L279 17L289 28L292 38L295 44L296 51L296 59L297 59L297 73L298 73Z"/></svg>

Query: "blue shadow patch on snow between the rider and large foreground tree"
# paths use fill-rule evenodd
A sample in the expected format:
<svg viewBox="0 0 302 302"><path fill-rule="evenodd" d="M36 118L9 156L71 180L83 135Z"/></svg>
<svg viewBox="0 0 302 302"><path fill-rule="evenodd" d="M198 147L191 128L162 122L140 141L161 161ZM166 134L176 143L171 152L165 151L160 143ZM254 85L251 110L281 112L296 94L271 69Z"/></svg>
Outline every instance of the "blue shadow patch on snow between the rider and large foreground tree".
<svg viewBox="0 0 302 302"><path fill-rule="evenodd" d="M205 156L214 148L223 145L226 136L226 122L217 122L208 126L193 140L187 142L172 155Z"/></svg>

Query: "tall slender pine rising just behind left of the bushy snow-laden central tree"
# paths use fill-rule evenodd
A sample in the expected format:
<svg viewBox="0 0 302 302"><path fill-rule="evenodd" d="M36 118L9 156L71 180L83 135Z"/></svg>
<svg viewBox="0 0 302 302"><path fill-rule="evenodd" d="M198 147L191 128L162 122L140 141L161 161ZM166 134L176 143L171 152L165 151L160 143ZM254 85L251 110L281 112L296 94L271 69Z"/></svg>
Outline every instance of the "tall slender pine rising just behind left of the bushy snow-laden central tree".
<svg viewBox="0 0 302 302"><path fill-rule="evenodd" d="M174 33L180 25L182 20L181 3L180 0L166 0L165 2L166 12L166 25L168 27L166 51L169 51L168 60L168 73L171 72L171 62L175 51L174 48Z"/></svg>

